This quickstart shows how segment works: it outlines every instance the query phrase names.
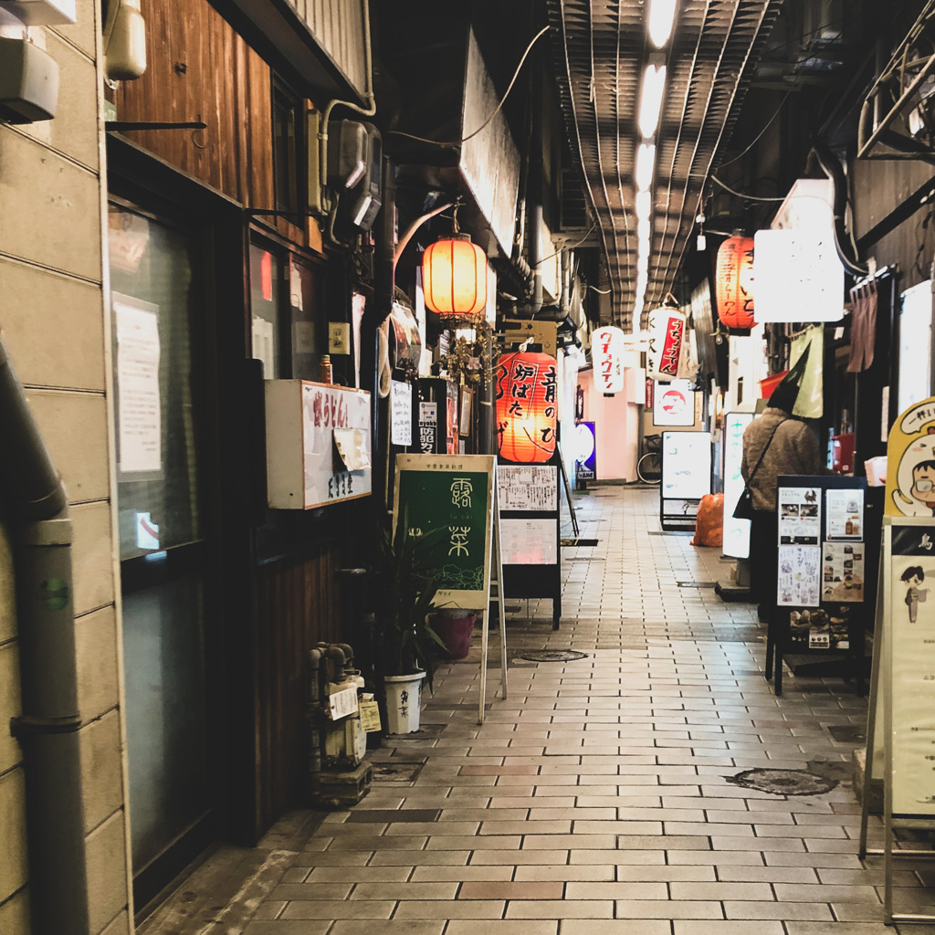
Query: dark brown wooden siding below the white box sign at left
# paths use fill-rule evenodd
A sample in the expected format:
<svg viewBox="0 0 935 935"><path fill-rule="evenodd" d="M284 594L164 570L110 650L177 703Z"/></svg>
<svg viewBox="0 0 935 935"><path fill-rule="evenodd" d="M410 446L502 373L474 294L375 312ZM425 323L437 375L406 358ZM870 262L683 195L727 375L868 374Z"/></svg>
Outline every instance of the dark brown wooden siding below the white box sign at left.
<svg viewBox="0 0 935 935"><path fill-rule="evenodd" d="M259 576L254 656L256 824L262 831L287 809L307 805L306 658L315 643L340 642L338 562L320 549L304 562Z"/></svg>

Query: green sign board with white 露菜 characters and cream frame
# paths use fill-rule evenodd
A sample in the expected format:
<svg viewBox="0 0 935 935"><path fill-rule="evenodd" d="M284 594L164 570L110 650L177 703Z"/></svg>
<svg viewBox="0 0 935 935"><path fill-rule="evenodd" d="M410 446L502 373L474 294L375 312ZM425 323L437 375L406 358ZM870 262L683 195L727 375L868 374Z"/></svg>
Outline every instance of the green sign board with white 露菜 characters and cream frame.
<svg viewBox="0 0 935 935"><path fill-rule="evenodd" d="M432 533L426 561L438 579L436 603L486 610L490 590L495 457L396 456L394 521Z"/></svg>

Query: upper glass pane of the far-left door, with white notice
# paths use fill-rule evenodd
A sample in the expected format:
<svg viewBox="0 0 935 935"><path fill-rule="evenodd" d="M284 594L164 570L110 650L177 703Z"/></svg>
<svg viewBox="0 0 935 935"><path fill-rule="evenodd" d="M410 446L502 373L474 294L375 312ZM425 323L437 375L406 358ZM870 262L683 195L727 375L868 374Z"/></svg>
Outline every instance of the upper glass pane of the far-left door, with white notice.
<svg viewBox="0 0 935 935"><path fill-rule="evenodd" d="M121 558L201 539L194 237L109 209Z"/></svg>

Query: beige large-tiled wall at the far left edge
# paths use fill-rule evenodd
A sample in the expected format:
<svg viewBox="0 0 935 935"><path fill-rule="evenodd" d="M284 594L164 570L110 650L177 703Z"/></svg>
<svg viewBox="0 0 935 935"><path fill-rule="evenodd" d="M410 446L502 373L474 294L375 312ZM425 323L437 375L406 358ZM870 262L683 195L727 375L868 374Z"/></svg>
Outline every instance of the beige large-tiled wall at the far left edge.
<svg viewBox="0 0 935 935"><path fill-rule="evenodd" d="M31 31L59 65L55 119L0 124L0 329L71 505L91 931L125 935L97 6L79 0L75 25ZM0 932L29 935L21 752L7 730L20 711L8 533L0 527Z"/></svg>

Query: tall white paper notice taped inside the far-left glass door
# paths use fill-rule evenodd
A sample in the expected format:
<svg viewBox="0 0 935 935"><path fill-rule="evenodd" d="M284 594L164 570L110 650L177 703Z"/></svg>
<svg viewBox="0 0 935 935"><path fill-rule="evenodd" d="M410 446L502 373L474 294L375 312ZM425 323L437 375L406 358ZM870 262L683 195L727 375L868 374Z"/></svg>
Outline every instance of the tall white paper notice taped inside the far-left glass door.
<svg viewBox="0 0 935 935"><path fill-rule="evenodd" d="M116 294L113 303L120 469L123 473L162 470L159 309Z"/></svg>

